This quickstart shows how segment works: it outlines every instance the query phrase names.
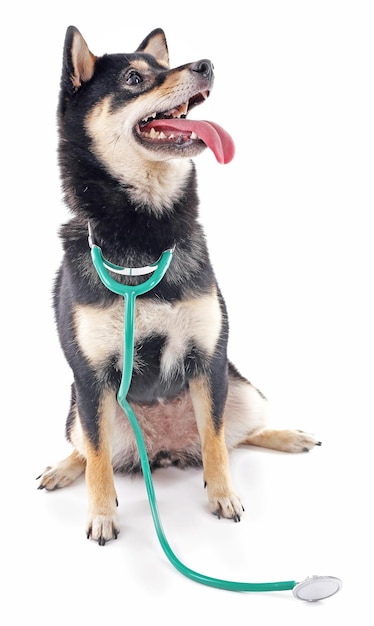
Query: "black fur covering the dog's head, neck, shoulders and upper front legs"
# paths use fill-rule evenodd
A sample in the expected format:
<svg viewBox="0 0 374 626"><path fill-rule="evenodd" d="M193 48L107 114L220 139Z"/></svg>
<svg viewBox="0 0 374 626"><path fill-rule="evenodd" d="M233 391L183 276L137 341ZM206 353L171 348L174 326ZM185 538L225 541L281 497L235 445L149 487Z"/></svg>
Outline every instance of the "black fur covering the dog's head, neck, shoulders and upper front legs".
<svg viewBox="0 0 374 626"><path fill-rule="evenodd" d="M157 260L164 250L175 246L166 276L152 293L142 296L143 299L178 302L186 298L198 298L211 292L216 279L198 222L195 168L192 167L183 194L174 203L172 212L159 211L155 214L152 207L135 203L126 186L103 168L91 150L92 142L85 131L88 112L106 95L114 94L113 108L126 105L129 96L123 91L121 96L118 95L118 84L126 67L134 58L140 58L141 52L105 55L96 61L92 80L74 89L70 78L73 73L71 43L74 32L75 29L68 29L66 36L58 107L59 163L65 201L74 217L60 231L64 260L55 284L54 303L61 344L75 377L77 389L73 394L73 403L77 400L81 419L91 441L98 445L96 415L100 386L96 380L97 374L76 343L72 310L77 304L105 307L119 296L108 291L96 276L88 246L88 220L93 228L95 243L102 248L103 255L120 266L147 265ZM140 49L148 39L144 40ZM150 89L157 89L170 70L160 67L150 55L144 58L156 75ZM122 280L129 284L142 281L141 278L128 277ZM159 364L164 338L149 337L141 345L135 345L135 352L141 355L146 366L141 375L134 372L129 400L152 404L159 397L173 398L188 388L191 377L209 372L214 398L213 416L216 427L220 426L227 390L228 324L225 303L222 296L219 297L223 323L219 350L213 360L208 362L206 354L197 346L186 346L183 376L163 384L159 376ZM118 346L118 350L121 350L121 346ZM100 372L100 381L118 388L116 356L112 355Z"/></svg>

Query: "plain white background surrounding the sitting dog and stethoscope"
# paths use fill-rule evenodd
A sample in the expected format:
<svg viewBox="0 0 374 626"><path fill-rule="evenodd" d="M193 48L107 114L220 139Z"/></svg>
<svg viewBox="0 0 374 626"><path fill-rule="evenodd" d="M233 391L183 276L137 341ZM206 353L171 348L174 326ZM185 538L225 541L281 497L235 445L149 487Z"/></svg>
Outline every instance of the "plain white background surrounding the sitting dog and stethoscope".
<svg viewBox="0 0 374 626"><path fill-rule="evenodd" d="M1 618L37 623L371 623L373 560L373 17L360 0L21 2L1 9ZM245 13L243 9L245 7ZM286 455L240 449L240 524L208 512L199 470L154 475L168 540L226 580L331 574L318 604L291 592L199 585L167 561L142 479L117 477L121 533L84 534L84 481L35 477L69 450L70 372L56 338L61 248L55 111L69 24L91 50L131 52L164 28L172 65L211 58L193 117L226 128L236 156L196 159L201 219L231 317L230 357L274 424L317 434ZM6 617L5 617L6 616Z"/></svg>

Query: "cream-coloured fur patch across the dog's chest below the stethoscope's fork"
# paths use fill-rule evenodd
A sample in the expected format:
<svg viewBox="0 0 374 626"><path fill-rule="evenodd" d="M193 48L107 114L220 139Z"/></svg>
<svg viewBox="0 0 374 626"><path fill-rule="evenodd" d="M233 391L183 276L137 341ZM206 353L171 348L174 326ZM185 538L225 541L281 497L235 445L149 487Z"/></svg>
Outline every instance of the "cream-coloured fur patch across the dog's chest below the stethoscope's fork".
<svg viewBox="0 0 374 626"><path fill-rule="evenodd" d="M160 376L167 379L181 367L186 350L194 346L211 355L221 330L221 309L216 290L190 300L167 303L138 298L135 309L134 371L147 367L143 362L147 345L161 338ZM74 312L77 342L90 365L99 370L117 358L123 365L124 303L117 300L110 307L77 305Z"/></svg>

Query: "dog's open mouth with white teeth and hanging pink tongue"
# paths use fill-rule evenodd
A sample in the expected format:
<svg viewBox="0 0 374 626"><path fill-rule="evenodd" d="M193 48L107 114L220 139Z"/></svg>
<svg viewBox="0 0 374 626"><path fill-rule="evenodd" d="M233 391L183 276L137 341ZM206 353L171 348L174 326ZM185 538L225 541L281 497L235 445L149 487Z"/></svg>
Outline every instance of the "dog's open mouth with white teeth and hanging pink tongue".
<svg viewBox="0 0 374 626"><path fill-rule="evenodd" d="M213 122L187 119L187 113L208 96L209 91L201 91L168 111L147 115L135 127L137 136L154 148L182 150L203 143L213 151L219 163L229 163L235 152L230 135Z"/></svg>

